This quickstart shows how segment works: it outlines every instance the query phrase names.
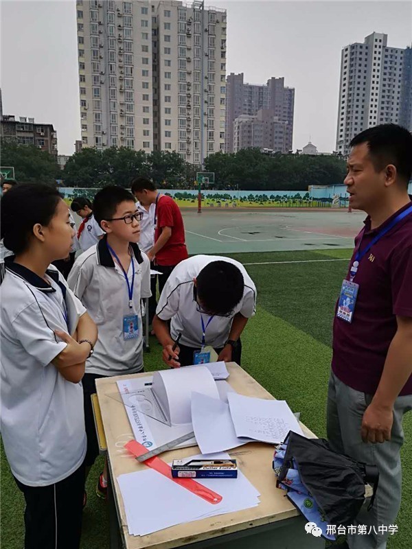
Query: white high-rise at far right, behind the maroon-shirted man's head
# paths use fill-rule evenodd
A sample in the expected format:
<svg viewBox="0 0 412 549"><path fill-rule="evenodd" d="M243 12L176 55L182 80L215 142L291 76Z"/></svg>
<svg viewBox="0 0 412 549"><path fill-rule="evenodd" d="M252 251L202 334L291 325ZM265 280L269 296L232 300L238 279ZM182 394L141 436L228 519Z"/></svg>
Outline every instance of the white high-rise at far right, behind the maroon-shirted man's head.
<svg viewBox="0 0 412 549"><path fill-rule="evenodd" d="M366 128L400 123L404 56L405 49L388 46L387 34L378 32L342 49L337 152L349 154L352 137Z"/></svg>

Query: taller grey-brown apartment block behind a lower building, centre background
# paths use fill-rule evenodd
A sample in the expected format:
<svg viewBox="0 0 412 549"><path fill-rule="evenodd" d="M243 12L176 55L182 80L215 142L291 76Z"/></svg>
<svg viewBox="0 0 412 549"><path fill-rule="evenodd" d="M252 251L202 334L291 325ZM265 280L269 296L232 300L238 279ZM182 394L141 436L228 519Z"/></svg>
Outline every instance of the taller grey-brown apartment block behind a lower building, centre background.
<svg viewBox="0 0 412 549"><path fill-rule="evenodd" d="M239 147L239 143L242 142L242 139L238 140L235 147L234 129L236 118L240 115L256 117L260 110L271 110L279 123L279 128L280 126L284 128L282 132L286 130L286 140L282 145L281 152L288 152L292 149L295 89L286 87L284 78L270 78L266 84L248 84L243 82L243 73L231 73L227 76L226 90L226 152L234 152ZM264 116L267 118L268 113ZM245 124L249 123L247 123L247 119L242 118L238 124L238 130L240 126ZM258 126L258 120L255 125ZM280 131L279 128L277 128L277 132ZM260 145L258 145L258 141L255 141L250 146L258 147Z"/></svg>

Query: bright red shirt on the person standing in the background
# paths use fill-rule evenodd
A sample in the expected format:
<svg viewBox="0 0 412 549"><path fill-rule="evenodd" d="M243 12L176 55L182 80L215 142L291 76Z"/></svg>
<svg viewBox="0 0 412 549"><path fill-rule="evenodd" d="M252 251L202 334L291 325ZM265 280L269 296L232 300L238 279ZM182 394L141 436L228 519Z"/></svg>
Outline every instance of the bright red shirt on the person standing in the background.
<svg viewBox="0 0 412 549"><path fill-rule="evenodd" d="M156 254L156 261L161 266L174 266L187 259L185 244L185 227L179 206L170 196L162 195L157 201L155 213L156 229L155 242L157 242L163 227L172 227L172 235L168 242Z"/></svg>

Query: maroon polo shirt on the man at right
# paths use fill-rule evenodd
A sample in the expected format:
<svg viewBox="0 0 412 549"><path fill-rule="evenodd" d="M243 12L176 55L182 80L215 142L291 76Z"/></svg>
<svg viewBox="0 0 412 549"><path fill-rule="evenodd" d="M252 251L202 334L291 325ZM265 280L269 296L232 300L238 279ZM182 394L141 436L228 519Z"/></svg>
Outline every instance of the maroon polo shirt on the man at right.
<svg viewBox="0 0 412 549"><path fill-rule="evenodd" d="M365 220L365 231L355 238L347 280L359 244L365 249L383 227L411 205L409 202L377 229L371 230L369 217ZM412 213L363 256L354 282L359 290L352 323L337 318L337 304L335 308L332 371L346 385L373 395L396 334L396 316L412 317ZM400 392L411 394L412 375Z"/></svg>

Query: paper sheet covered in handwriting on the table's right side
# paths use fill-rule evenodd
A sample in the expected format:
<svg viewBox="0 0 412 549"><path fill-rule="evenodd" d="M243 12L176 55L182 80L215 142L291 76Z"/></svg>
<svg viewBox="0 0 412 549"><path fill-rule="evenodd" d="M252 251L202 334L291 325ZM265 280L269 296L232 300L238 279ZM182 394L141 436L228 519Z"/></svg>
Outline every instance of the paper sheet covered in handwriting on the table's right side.
<svg viewBox="0 0 412 549"><path fill-rule="evenodd" d="M236 436L279 444L289 431L304 436L285 400L265 400L229 393L229 408Z"/></svg>

